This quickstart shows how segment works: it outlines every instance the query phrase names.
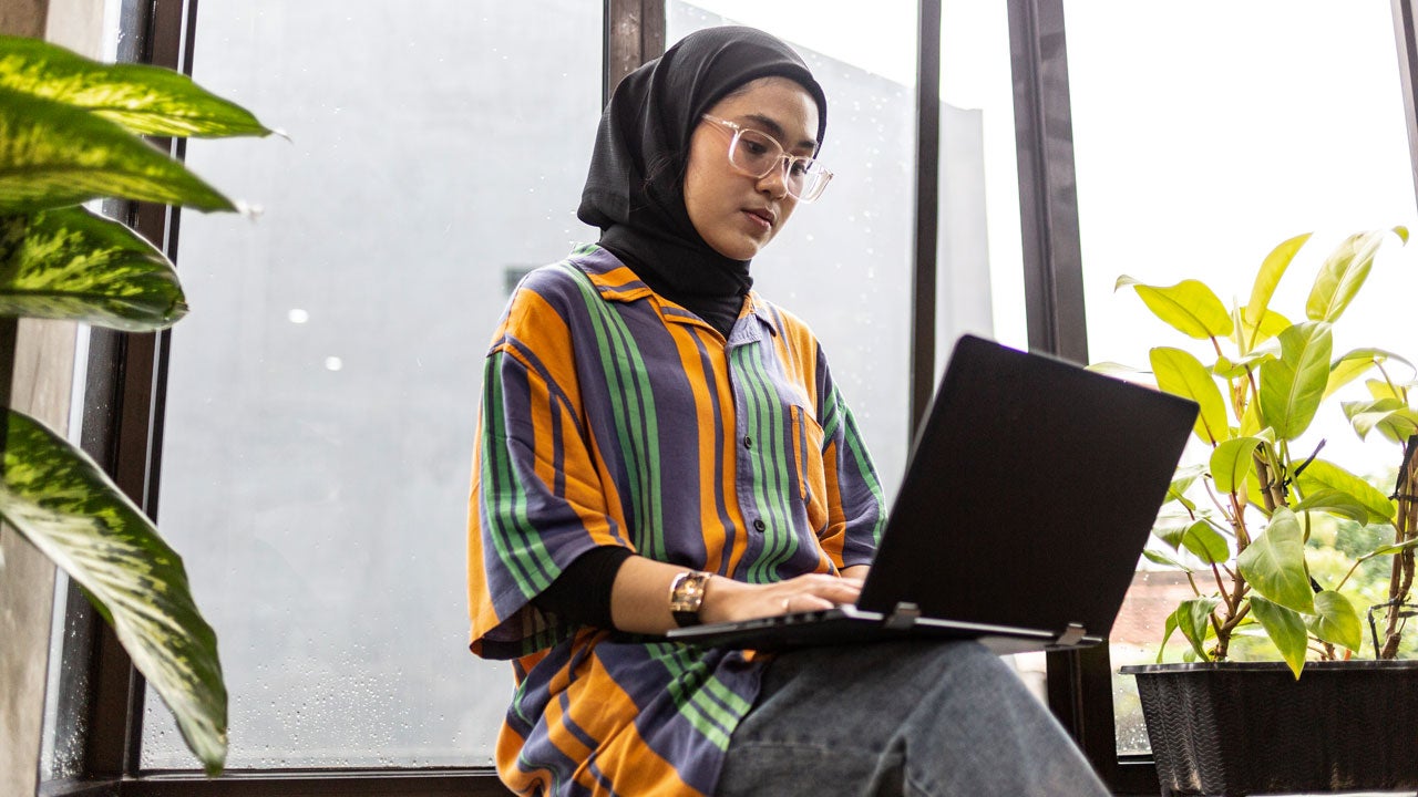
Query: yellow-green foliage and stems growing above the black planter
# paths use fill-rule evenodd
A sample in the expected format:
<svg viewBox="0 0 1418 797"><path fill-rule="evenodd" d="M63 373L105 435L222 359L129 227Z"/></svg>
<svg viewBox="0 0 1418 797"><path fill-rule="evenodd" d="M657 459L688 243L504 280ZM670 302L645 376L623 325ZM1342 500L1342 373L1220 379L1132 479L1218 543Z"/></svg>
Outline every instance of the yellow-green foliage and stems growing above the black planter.
<svg viewBox="0 0 1418 797"><path fill-rule="evenodd" d="M1392 231L1407 243L1407 228ZM1418 545L1409 468L1418 413L1408 404L1409 383L1395 381L1387 367L1407 360L1383 349L1333 356L1333 326L1364 285L1385 235L1346 238L1320 267L1305 318L1295 323L1271 308L1271 299L1307 234L1265 258L1244 306L1228 309L1197 279L1170 286L1117 279L1119 289L1132 286L1157 318L1210 342L1215 353L1202 363L1180 347L1150 350L1157 386L1201 406L1195 437L1210 450L1205 464L1178 469L1153 530L1161 550L1146 552L1159 564L1187 572L1194 591L1167 618L1164 647L1180 631L1194 658L1227 659L1234 641L1255 634L1268 638L1299 678L1312 652L1332 659L1351 655L1340 648L1358 651L1363 620L1346 586L1366 562L1394 556L1381 652L1395 654ZM1394 491L1400 501L1322 458L1323 441L1307 451L1292 448L1323 403L1371 370L1380 374L1367 383L1373 400L1344 401L1343 408L1360 435L1377 428L1402 447ZM1339 572L1320 566L1322 549L1312 540L1320 529L1371 525L1388 528L1381 545L1357 552Z"/></svg>

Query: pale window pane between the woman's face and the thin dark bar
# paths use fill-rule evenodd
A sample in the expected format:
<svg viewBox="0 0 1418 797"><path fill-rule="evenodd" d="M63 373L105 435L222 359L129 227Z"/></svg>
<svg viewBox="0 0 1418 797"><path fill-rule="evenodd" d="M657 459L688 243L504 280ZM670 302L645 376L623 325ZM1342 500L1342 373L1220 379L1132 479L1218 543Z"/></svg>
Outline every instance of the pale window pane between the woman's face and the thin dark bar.
<svg viewBox="0 0 1418 797"><path fill-rule="evenodd" d="M766 30L822 84L821 159L835 177L754 258L753 278L821 339L889 499L909 442L915 4L671 0L666 16L669 43L720 24Z"/></svg>

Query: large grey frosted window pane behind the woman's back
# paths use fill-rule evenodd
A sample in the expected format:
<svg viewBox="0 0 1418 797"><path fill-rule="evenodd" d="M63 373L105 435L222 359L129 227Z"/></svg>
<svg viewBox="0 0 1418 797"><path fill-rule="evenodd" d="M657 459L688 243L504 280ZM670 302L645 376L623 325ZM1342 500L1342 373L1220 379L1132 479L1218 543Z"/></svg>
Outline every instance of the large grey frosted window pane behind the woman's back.
<svg viewBox="0 0 1418 797"><path fill-rule="evenodd" d="M233 769L491 763L467 650L482 355L574 218L601 4L203 0L199 82L291 140L191 142L159 523L217 628ZM191 767L149 695L145 767Z"/></svg>

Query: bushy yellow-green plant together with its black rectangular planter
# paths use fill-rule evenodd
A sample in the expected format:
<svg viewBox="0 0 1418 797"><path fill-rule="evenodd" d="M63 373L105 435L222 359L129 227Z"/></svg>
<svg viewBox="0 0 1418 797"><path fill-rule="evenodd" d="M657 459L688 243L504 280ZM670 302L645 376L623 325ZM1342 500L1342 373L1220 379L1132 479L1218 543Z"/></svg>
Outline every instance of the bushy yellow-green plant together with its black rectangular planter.
<svg viewBox="0 0 1418 797"><path fill-rule="evenodd" d="M1263 260L1242 306L1197 279L1117 281L1207 352L1150 350L1157 387L1200 404L1204 451L1178 468L1146 552L1183 570L1193 594L1167 617L1159 664L1123 668L1137 678L1164 794L1418 786L1418 662L1392 661L1418 545L1412 366L1377 347L1333 350L1334 325L1388 234L1346 238L1293 315L1271 299L1309 235ZM1405 228L1392 234L1407 243ZM1339 391L1366 376L1368 398L1343 401ZM1327 459L1323 440L1302 441L1330 404L1361 437L1377 430L1398 442L1388 486ZM1163 664L1177 632L1190 661ZM1244 661L1255 658L1280 661Z"/></svg>

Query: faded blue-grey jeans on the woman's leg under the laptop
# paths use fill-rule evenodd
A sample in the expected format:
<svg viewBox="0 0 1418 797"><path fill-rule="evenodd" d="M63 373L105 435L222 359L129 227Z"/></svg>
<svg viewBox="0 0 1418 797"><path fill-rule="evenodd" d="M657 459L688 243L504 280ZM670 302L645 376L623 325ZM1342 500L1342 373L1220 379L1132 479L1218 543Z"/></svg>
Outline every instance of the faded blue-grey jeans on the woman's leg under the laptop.
<svg viewBox="0 0 1418 797"><path fill-rule="evenodd" d="M778 655L720 797L1106 797L1054 715L976 642Z"/></svg>

